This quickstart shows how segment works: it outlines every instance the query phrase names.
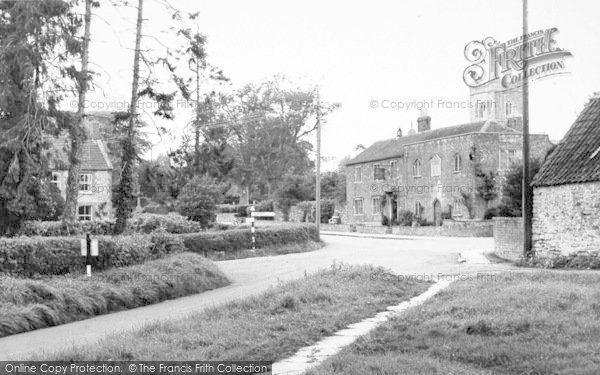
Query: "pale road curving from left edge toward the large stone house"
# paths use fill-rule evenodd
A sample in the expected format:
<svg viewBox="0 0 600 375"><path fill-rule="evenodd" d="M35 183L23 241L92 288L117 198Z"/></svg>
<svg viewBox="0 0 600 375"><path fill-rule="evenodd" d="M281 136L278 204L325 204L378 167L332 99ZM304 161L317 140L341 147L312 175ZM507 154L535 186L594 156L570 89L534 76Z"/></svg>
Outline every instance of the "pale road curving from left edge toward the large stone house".
<svg viewBox="0 0 600 375"><path fill-rule="evenodd" d="M334 262L374 264L397 274L437 277L509 268L506 265L457 263L459 253L491 251L491 238L417 238L323 235L318 251L217 262L232 284L205 293L133 310L0 338L0 360L27 359L73 345L94 343L109 333L139 328L150 322L176 319L207 307L264 292L279 281L301 278Z"/></svg>

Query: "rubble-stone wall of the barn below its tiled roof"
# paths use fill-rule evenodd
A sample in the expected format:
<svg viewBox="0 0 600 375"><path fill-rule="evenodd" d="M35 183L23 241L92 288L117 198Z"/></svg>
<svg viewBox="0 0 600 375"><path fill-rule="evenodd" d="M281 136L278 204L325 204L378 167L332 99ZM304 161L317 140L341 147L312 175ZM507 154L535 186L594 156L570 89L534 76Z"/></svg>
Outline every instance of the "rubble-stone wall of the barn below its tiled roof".
<svg viewBox="0 0 600 375"><path fill-rule="evenodd" d="M600 182L534 190L533 249L552 257L600 249Z"/></svg>

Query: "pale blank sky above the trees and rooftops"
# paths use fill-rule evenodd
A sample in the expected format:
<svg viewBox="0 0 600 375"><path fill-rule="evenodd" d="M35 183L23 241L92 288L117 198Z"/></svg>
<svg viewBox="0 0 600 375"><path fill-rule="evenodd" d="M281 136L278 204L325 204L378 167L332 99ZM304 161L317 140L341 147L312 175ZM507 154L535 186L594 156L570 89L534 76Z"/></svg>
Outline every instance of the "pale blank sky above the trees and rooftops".
<svg viewBox="0 0 600 375"><path fill-rule="evenodd" d="M166 0L145 0L144 42L159 55L172 46L168 29L180 26ZM131 1L137 4L137 1ZM465 46L494 37L521 35L521 1L491 0L168 0L185 12L200 12L208 61L223 69L230 87L285 75L301 85L318 85L321 99L341 107L322 132L324 170L333 170L357 145L393 138L398 128L416 127L415 104L433 100L432 128L469 122L468 110L453 102L469 99L463 71ZM101 0L94 10L90 60L97 73L88 110L124 106L131 92L136 10ZM529 30L559 29L556 40L573 57L568 75L532 83L530 127L560 140L594 92L600 91L600 2L530 0ZM404 107L383 108L383 101ZM377 105L373 105L377 103ZM410 105L410 103L414 103ZM442 105L438 106L438 103ZM150 120L147 130L156 158L177 148L191 110L177 106L173 121ZM153 124L171 135L152 134ZM310 139L313 141L313 139Z"/></svg>

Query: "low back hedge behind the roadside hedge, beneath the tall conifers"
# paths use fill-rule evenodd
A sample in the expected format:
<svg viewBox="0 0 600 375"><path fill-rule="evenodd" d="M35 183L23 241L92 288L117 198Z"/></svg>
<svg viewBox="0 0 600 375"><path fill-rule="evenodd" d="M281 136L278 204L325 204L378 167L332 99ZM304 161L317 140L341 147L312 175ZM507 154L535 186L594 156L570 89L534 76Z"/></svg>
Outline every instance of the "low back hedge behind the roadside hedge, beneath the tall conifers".
<svg viewBox="0 0 600 375"><path fill-rule="evenodd" d="M22 224L18 235L22 236L73 236L91 233L94 235L109 235L113 233L113 220L76 221L63 224L61 221L26 221ZM150 233L157 229L169 233L194 233L202 230L199 223L187 220L179 215L139 214L127 222L129 233Z"/></svg>

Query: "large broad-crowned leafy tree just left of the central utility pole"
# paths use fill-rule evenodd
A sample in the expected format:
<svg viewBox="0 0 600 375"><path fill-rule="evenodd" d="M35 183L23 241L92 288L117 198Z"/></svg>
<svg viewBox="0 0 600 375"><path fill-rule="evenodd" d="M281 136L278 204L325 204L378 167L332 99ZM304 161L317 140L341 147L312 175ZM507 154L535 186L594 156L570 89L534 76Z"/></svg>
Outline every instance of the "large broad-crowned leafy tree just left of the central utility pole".
<svg viewBox="0 0 600 375"><path fill-rule="evenodd" d="M232 177L249 191L264 186L270 196L284 174L305 174L314 163L306 137L316 130L316 114L322 121L338 104L317 101L317 88L289 88L282 77L249 84L233 95L221 96L220 110L230 126L229 144L235 164Z"/></svg>

